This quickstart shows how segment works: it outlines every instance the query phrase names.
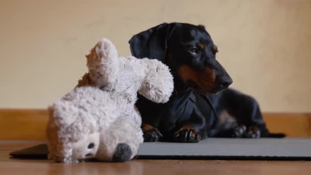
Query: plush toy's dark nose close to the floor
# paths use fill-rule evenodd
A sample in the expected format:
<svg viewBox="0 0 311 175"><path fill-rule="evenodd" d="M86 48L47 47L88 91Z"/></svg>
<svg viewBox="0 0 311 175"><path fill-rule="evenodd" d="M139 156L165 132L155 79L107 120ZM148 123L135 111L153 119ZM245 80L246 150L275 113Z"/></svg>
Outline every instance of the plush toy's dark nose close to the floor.
<svg viewBox="0 0 311 175"><path fill-rule="evenodd" d="M114 162L124 162L130 160L132 156L132 150L130 149L129 145L126 143L119 143L116 147L113 161Z"/></svg>

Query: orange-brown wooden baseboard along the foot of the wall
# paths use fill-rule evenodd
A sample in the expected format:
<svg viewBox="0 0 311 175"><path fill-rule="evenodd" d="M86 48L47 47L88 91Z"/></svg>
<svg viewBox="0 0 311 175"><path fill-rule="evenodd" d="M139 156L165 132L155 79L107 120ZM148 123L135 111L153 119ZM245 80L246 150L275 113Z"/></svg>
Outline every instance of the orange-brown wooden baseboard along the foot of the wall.
<svg viewBox="0 0 311 175"><path fill-rule="evenodd" d="M273 133L311 137L311 114L263 113ZM0 109L0 139L45 139L46 110Z"/></svg>

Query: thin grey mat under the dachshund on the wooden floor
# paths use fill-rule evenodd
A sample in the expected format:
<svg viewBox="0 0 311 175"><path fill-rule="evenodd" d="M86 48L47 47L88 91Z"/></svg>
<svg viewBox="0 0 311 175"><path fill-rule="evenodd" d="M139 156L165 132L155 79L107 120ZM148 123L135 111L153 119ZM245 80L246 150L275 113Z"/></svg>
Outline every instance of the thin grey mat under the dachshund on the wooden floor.
<svg viewBox="0 0 311 175"><path fill-rule="evenodd" d="M46 158L41 144L10 153L19 158ZM219 139L199 143L143 143L137 159L311 160L311 139Z"/></svg>

